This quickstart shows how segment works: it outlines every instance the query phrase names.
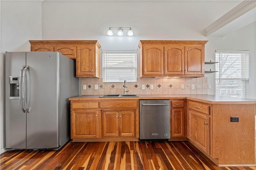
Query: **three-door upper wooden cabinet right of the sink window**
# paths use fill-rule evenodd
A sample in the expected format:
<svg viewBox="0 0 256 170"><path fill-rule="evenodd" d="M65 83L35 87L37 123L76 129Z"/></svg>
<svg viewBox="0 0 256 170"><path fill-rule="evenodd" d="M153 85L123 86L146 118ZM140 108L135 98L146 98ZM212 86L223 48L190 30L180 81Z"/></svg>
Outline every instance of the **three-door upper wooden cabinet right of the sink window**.
<svg viewBox="0 0 256 170"><path fill-rule="evenodd" d="M206 42L141 40L140 77L203 77Z"/></svg>

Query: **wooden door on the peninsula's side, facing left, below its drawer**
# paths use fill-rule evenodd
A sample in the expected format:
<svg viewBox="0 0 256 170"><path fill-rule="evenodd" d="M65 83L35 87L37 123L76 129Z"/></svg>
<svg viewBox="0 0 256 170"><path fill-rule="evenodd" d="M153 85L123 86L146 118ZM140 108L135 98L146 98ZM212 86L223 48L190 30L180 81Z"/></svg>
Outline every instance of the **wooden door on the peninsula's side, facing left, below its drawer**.
<svg viewBox="0 0 256 170"><path fill-rule="evenodd" d="M210 118L204 114L189 110L188 138L204 152L210 153Z"/></svg>

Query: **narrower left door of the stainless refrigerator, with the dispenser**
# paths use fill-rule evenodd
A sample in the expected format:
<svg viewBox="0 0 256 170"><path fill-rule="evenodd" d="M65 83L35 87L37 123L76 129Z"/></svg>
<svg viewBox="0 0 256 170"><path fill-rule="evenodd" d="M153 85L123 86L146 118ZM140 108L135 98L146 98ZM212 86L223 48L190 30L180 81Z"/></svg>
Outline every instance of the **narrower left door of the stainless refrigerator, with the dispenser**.
<svg viewBox="0 0 256 170"><path fill-rule="evenodd" d="M5 130L6 148L26 149L26 113L20 106L20 99L10 99L10 76L19 76L20 69L26 65L25 52L6 52L5 54Z"/></svg>

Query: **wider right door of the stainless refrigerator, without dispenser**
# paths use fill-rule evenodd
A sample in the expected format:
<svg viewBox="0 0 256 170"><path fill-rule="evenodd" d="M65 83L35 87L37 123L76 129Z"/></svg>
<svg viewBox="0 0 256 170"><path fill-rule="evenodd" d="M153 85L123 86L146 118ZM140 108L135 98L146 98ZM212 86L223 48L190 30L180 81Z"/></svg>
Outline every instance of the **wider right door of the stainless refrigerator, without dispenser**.
<svg viewBox="0 0 256 170"><path fill-rule="evenodd" d="M27 149L59 146L58 55L26 52Z"/></svg>

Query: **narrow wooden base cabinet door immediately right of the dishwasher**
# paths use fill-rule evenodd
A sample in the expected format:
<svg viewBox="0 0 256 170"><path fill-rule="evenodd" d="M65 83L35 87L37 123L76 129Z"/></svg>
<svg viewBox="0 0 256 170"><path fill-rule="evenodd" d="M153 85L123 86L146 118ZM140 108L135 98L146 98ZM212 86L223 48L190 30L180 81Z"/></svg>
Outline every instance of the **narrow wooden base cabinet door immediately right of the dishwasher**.
<svg viewBox="0 0 256 170"><path fill-rule="evenodd" d="M172 137L184 136L184 109L172 109Z"/></svg>

